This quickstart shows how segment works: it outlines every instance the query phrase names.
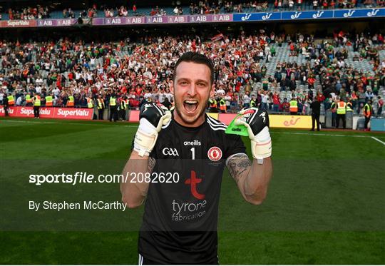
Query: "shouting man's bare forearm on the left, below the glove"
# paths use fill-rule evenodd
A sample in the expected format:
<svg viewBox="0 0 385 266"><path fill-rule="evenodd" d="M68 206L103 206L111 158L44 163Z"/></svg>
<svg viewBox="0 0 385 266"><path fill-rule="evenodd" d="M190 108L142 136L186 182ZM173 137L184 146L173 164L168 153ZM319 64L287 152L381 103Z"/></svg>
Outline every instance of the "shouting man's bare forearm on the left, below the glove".
<svg viewBox="0 0 385 266"><path fill-rule="evenodd" d="M136 179L135 183L131 183L130 173L135 173L138 176L138 173L152 173L155 166L156 160L149 156L139 156L138 153L133 150L130 155L130 159L125 164L123 169L123 180L120 183L120 193L122 193L122 201L125 203L128 208L136 208L143 204L145 196L148 192L148 185L143 178L143 182L138 182ZM124 178L128 176L127 180Z"/></svg>

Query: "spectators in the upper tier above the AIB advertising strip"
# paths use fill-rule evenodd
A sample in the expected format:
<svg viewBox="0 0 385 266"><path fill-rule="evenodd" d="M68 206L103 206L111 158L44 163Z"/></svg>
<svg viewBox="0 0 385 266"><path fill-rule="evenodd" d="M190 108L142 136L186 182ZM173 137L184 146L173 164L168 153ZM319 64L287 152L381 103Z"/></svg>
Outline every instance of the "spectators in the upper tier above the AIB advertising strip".
<svg viewBox="0 0 385 266"><path fill-rule="evenodd" d="M363 0L359 1L361 7L384 7L385 0ZM273 1L199 1L185 6L188 14L223 14L223 13L242 13L242 12L260 12L267 11L271 7L272 11L300 11L304 6L312 6L312 9L354 9L357 7L358 0L273 0ZM56 6L34 6L22 9L9 9L9 19L46 19L50 18L50 12L54 11ZM172 12L166 12L165 9L155 6L148 13L139 12L136 5L132 6L96 6L93 4L88 9L73 11L71 7L63 9L63 18L91 19L96 16L116 17L116 16L164 16L164 15L182 15L183 6L173 6ZM187 12L186 12L187 13ZM0 16L1 19L1 16Z"/></svg>

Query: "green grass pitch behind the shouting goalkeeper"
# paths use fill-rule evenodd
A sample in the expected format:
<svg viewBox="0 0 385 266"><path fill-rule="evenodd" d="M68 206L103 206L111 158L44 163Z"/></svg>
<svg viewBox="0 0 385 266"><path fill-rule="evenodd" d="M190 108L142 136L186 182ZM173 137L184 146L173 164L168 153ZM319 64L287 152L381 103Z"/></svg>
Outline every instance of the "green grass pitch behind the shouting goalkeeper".
<svg viewBox="0 0 385 266"><path fill-rule="evenodd" d="M120 200L118 184L36 186L28 176L120 173L136 126L0 119L1 264L138 263L143 208L40 219L26 211L39 198ZM274 174L265 203L246 203L223 176L220 263L385 264L385 134L271 131Z"/></svg>

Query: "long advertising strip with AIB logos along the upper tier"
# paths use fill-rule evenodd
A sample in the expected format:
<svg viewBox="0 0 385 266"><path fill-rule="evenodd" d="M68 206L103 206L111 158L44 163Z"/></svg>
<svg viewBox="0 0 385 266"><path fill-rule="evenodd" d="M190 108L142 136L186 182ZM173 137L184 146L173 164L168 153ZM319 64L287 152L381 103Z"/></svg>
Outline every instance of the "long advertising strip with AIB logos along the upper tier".
<svg viewBox="0 0 385 266"><path fill-rule="evenodd" d="M278 11L237 14L202 14L181 16L115 16L94 18L93 26L135 25L135 24L192 24L248 21L299 21L319 19L376 19L385 17L385 8L371 9L329 9L317 11ZM77 19L31 19L0 21L1 28L10 27L61 27L77 25Z"/></svg>

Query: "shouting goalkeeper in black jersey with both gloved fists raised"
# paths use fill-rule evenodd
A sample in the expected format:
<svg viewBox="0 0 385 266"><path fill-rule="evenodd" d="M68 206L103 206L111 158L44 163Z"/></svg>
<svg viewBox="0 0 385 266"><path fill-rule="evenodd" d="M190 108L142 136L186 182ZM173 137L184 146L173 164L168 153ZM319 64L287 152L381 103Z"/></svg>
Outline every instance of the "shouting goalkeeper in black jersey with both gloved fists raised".
<svg viewBox="0 0 385 266"><path fill-rule="evenodd" d="M258 205L266 197L272 175L267 113L245 109L236 121L248 130L254 158L250 162L240 136L225 134L225 124L205 115L215 91L213 69L206 56L183 54L170 83L173 118L155 103L140 110L133 152L123 175L151 173L159 178L157 183L125 180L120 185L129 208L145 202L140 264L218 264L217 215L225 165L245 200ZM180 180L162 183L165 173L178 174Z"/></svg>

